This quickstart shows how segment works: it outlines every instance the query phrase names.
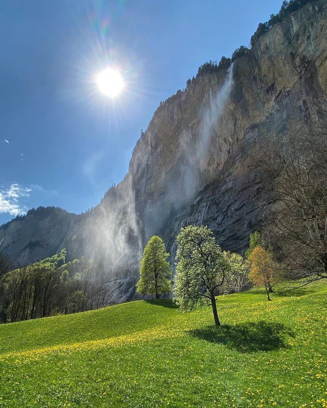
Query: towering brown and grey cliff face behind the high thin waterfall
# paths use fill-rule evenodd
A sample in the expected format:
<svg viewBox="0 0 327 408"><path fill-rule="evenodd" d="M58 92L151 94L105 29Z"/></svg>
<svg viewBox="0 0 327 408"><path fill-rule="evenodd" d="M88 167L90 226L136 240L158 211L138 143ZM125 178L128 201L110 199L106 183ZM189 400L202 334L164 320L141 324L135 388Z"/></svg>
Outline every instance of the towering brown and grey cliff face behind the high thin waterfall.
<svg viewBox="0 0 327 408"><path fill-rule="evenodd" d="M174 256L180 227L202 223L244 251L263 217L256 139L310 118L327 81L326 23L326 3L308 4L235 61L227 98L228 73L206 75L155 113L130 164L146 239L160 231Z"/></svg>

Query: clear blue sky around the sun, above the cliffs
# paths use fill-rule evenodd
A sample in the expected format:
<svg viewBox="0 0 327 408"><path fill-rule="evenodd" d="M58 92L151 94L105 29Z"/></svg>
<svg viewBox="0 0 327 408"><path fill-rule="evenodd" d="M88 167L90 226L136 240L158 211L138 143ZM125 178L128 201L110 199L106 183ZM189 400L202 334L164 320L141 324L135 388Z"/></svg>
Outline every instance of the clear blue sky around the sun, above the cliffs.
<svg viewBox="0 0 327 408"><path fill-rule="evenodd" d="M98 204L159 102L249 45L281 3L1 1L0 224L40 205ZM94 81L108 66L125 81L114 99Z"/></svg>

